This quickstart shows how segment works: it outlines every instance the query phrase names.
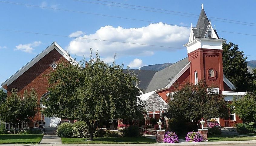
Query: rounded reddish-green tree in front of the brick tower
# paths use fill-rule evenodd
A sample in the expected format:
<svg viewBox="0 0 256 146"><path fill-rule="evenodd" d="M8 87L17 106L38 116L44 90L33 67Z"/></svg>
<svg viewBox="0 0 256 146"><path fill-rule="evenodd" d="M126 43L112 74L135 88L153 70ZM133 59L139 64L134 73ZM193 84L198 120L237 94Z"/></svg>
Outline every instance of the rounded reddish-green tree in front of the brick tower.
<svg viewBox="0 0 256 146"><path fill-rule="evenodd" d="M201 80L198 85L186 83L176 86L173 94L168 96L168 110L165 116L178 121L191 122L198 129L201 118L225 118L228 108L223 95L213 94L210 88ZM210 94L208 94L210 93Z"/></svg>

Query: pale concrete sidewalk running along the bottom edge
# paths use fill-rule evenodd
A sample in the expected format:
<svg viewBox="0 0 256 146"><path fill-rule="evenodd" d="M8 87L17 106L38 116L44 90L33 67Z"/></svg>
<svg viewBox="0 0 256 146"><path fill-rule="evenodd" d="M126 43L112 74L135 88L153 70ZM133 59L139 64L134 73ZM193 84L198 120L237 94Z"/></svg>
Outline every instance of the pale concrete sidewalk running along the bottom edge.
<svg viewBox="0 0 256 146"><path fill-rule="evenodd" d="M0 144L0 146L252 146L256 145L256 140L251 141L215 141L215 142L179 142L174 144Z"/></svg>

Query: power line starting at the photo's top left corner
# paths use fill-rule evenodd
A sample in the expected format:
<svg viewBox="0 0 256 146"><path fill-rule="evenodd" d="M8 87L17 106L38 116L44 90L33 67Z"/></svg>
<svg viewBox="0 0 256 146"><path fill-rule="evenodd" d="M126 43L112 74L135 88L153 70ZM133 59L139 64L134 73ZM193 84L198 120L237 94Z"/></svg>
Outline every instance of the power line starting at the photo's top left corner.
<svg viewBox="0 0 256 146"><path fill-rule="evenodd" d="M105 17L114 17L114 18L121 18L121 19L128 19L128 20L136 20L136 21L143 21L143 22L150 22L150 23L159 23L159 22L156 22L156 21L148 21L148 20L133 19L133 18L126 18L126 17L118 17L118 16L111 16L111 15L95 14L95 13L88 13L88 12L82 12L82 11L73 11L73 10L66 10L66 9L58 9L58 8L50 8L50 7L43 7L43 6L37 6L37 5L28 5L28 4L20 4L20 3L5 2L5 1L0 1L0 2L8 3L8 4L16 4L16 5L25 5L25 6L31 6L31 7L38 7L38 8L47 8L47 9L53 9L53 10L76 12L76 13L82 13L82 14L91 14L91 15L98 15L98 16L105 16ZM183 26L183 25L170 24L170 23L165 23L165 24L176 25L176 26L190 28L190 26ZM204 28L201 28L201 29L204 29ZM222 30L216 30L216 31L224 32L224 33L241 34L241 35L247 35L247 36L256 36L256 35L253 35L253 34L246 34L246 33L237 33L237 32L229 32L229 31L222 31Z"/></svg>

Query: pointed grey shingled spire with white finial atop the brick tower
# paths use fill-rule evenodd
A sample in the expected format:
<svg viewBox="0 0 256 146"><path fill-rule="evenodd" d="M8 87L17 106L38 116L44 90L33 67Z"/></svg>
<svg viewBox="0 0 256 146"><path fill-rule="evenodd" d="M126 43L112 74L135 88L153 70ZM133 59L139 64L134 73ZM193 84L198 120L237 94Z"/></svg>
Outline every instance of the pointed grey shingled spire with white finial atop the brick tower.
<svg viewBox="0 0 256 146"><path fill-rule="evenodd" d="M202 4L202 10L200 13L200 16L198 18L197 24L196 24L196 28L197 28L197 38L202 38L204 37L205 31L207 26L209 25L209 20L204 12L204 7Z"/></svg>

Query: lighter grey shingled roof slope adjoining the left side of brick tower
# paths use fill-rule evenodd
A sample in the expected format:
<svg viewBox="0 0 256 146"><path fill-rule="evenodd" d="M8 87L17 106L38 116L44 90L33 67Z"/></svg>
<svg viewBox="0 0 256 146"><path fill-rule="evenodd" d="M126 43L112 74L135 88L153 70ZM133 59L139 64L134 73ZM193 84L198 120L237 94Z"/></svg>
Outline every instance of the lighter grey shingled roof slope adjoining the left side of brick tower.
<svg viewBox="0 0 256 146"><path fill-rule="evenodd" d="M164 88L188 64L188 62L188 57L186 57L165 69L156 72L145 93Z"/></svg>

